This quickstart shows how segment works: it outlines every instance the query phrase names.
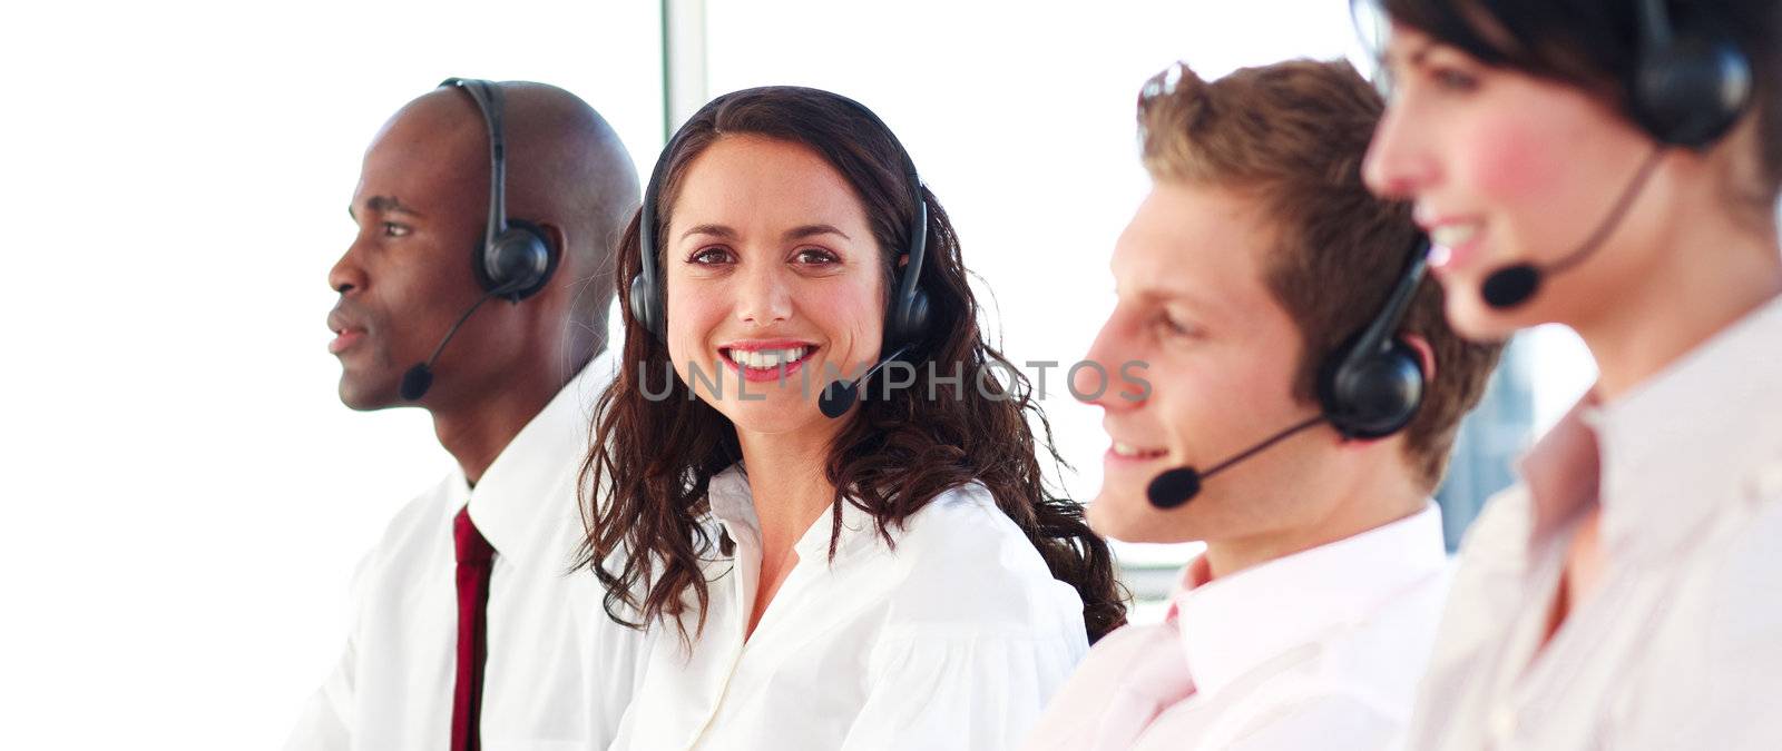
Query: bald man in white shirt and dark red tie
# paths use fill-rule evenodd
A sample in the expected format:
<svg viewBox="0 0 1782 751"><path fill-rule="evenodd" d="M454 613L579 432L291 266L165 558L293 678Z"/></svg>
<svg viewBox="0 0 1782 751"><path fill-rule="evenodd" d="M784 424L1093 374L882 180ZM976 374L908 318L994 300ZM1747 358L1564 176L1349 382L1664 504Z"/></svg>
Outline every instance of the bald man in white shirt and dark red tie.
<svg viewBox="0 0 1782 751"><path fill-rule="evenodd" d="M485 112L504 130L506 212L549 256L529 285L481 271ZM601 356L609 254L636 205L618 137L551 85L447 82L372 139L349 208L358 237L328 272L340 294L328 315L340 400L426 409L458 466L403 507L362 561L346 655L289 749L611 740L642 637L606 618L593 575L568 571L583 539L590 409L611 379ZM405 386L463 315L431 384Z"/></svg>

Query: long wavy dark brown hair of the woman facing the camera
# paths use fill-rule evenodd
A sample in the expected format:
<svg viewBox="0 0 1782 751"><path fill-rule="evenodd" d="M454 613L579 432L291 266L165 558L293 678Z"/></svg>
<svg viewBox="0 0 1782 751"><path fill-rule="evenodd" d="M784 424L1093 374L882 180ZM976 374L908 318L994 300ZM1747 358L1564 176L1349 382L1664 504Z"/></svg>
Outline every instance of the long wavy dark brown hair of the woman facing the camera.
<svg viewBox="0 0 1782 751"><path fill-rule="evenodd" d="M884 278L891 279L898 249L909 247L905 235L916 212L903 146L862 109L827 91L747 89L695 114L681 128L674 151L661 157L668 171L656 206L658 231L670 221L693 158L718 139L738 133L804 144L823 157L866 208ZM937 379L934 399L925 399L927 388L898 390L887 399L875 393L845 416L846 425L825 464L825 477L836 488L830 555L841 530L841 504L871 514L877 534L893 545L891 529L943 491L982 482L1034 543L1051 575L1082 596L1083 623L1094 641L1124 623L1126 612L1107 543L1089 530L1078 504L1048 491L1028 420L1039 424L1046 452L1062 464L1051 424L1032 399L1026 379L984 342L959 238L934 194L921 189L921 196L928 203L928 251L920 285L928 295L928 322L916 352L939 372L959 368L968 377L960 384ZM595 448L583 464L588 521L583 562L606 585L606 610L615 621L642 628L672 619L683 639L693 639L704 628L709 603L700 561L713 552L731 552L727 539L715 539L700 523L709 511L706 491L711 477L741 454L729 418L690 399L677 377L668 377L666 399L650 399L661 386L640 381L668 372L668 351L631 315L629 279L642 265L638 246L638 219L633 219L618 246L618 295L625 311L622 367L601 395ZM650 251L661 269L661 251ZM889 303L891 285L884 288L884 303ZM1010 383L985 383L980 392L969 374L985 367L1005 370ZM650 397L643 386L650 388ZM595 505L602 495L609 498ZM697 616L691 632L683 619L688 609Z"/></svg>

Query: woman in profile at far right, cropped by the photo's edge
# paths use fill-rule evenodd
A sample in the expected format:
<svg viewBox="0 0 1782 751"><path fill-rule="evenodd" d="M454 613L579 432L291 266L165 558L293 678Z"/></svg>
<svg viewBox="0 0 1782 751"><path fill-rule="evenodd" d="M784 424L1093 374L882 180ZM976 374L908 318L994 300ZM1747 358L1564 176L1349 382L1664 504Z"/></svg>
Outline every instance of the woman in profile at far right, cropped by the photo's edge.
<svg viewBox="0 0 1782 751"><path fill-rule="evenodd" d="M1778 749L1782 5L1385 0L1367 174L1600 377L1468 532L1413 749Z"/></svg>

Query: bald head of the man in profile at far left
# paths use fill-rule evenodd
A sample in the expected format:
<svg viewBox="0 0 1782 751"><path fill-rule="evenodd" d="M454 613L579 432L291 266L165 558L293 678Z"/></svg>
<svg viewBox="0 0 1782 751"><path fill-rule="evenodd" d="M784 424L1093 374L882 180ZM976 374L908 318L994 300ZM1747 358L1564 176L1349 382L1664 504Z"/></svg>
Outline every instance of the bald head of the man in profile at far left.
<svg viewBox="0 0 1782 751"><path fill-rule="evenodd" d="M508 217L538 228L561 258L535 295L481 306L444 349L421 406L485 409L494 395L529 418L606 345L613 246L638 205L638 178L613 128L574 94L501 84ZM358 233L328 274L340 294L340 397L355 409L405 404L403 372L424 363L485 290L476 247L488 221L488 132L469 93L405 105L365 151L351 212ZM517 383L520 377L536 383ZM536 400L538 404L531 404Z"/></svg>

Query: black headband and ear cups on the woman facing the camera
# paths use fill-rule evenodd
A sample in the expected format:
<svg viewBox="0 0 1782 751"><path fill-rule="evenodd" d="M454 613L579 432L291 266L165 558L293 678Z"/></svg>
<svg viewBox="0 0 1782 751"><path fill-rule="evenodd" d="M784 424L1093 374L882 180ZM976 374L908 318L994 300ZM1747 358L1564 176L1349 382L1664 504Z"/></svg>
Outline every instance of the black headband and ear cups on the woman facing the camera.
<svg viewBox="0 0 1782 751"><path fill-rule="evenodd" d="M764 89L795 89L795 87L764 87ZM700 107L688 123L699 121L702 116L716 112L725 103L741 94L761 93L763 89L743 89L734 91ZM816 89L804 89L816 91ZM896 139L896 133L882 119L879 119L873 110L866 105L854 101L846 96L822 91L823 96L839 100L859 110L866 119L870 119L893 144L896 144L898 155L903 158L903 178L909 182L911 212L909 222L909 247L902 251L902 256L909 258L902 269L893 265L893 295L891 306L886 311L886 342L884 347L889 349L900 343L914 343L928 324L928 294L921 290L921 265L928 254L928 201L921 198L921 178L916 174L916 162L903 149L903 144ZM631 278L631 317L643 324L658 340L666 340L666 304L663 301L663 283L656 269L656 233L661 230L656 226L656 203L661 196L661 183L666 180L668 160L681 146L681 139L686 135L686 126L675 132L668 144L663 146L661 157L656 157L656 169L650 171L650 183L643 190L643 208L638 214L638 251L642 267L638 276Z"/></svg>

